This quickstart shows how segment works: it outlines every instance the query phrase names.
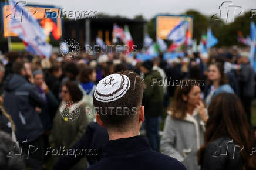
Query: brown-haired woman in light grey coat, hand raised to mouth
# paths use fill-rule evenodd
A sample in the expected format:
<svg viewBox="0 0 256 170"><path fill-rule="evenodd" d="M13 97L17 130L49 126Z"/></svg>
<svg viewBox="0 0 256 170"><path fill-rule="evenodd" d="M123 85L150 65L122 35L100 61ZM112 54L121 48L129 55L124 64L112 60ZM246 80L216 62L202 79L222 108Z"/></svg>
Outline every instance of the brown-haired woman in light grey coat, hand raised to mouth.
<svg viewBox="0 0 256 170"><path fill-rule="evenodd" d="M174 101L167 109L160 151L181 161L187 169L198 170L197 151L203 145L207 110L201 100L200 84L196 80L181 82L183 86L176 88Z"/></svg>

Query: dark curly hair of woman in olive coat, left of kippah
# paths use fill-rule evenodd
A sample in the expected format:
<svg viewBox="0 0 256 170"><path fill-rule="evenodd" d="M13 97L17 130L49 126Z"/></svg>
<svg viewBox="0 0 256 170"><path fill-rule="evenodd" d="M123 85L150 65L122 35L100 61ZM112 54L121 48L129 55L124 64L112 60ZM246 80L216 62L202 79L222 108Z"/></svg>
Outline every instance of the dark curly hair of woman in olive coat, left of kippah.
<svg viewBox="0 0 256 170"><path fill-rule="evenodd" d="M76 84L74 81L67 80L63 84L63 86L66 86L66 88L69 91L69 94L72 98L72 102L76 103L83 98L83 93L78 87L78 84Z"/></svg>

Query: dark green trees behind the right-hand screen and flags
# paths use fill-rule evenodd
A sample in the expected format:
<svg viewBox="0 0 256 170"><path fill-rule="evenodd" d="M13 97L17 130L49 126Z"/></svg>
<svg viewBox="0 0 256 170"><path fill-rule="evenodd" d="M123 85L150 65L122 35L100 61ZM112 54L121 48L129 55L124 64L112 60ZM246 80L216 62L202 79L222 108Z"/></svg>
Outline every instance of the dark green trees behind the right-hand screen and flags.
<svg viewBox="0 0 256 170"><path fill-rule="evenodd" d="M183 13L183 15L193 16L193 39L197 40L197 43L201 40L201 35L207 33L207 28L210 26L213 35L218 39L217 47L220 46L243 46L237 41L238 31L242 32L242 35L246 38L250 36L250 23L251 21L256 23L256 16L251 18L251 12L245 12L235 18L234 22L225 23L221 19L212 19L211 16L202 15L200 12L190 9ZM156 25L155 18L150 19L147 22L147 32L151 38L156 37Z"/></svg>

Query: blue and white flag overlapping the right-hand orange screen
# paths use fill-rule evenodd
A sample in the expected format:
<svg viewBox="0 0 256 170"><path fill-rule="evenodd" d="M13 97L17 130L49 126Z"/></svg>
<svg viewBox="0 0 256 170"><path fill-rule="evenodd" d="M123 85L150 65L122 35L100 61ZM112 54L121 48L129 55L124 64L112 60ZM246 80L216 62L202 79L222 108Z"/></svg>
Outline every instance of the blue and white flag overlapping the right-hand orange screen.
<svg viewBox="0 0 256 170"><path fill-rule="evenodd" d="M186 31L188 27L188 22L181 20L178 25L176 25L167 36L167 40L172 40L174 43L180 45L186 40Z"/></svg>

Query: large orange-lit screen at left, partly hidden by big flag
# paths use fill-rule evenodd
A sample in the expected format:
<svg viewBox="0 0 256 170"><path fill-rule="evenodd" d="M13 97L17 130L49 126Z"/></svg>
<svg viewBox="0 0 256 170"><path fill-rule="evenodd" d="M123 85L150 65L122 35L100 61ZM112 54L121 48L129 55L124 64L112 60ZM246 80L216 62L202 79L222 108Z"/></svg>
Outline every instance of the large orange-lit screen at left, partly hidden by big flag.
<svg viewBox="0 0 256 170"><path fill-rule="evenodd" d="M62 15L60 15L60 8L46 5L25 5L25 8L28 10L31 16L34 16L37 19L39 24L44 29L46 36L49 37L52 35L53 39L59 40L59 38L62 36ZM2 4L1 9L3 36L5 38L7 36L17 36L8 29L8 24L12 17L9 5Z"/></svg>

